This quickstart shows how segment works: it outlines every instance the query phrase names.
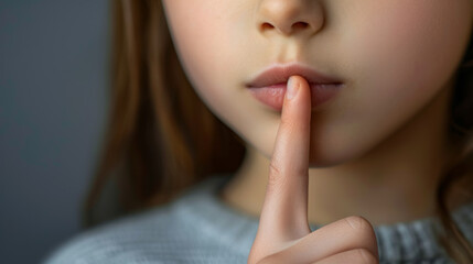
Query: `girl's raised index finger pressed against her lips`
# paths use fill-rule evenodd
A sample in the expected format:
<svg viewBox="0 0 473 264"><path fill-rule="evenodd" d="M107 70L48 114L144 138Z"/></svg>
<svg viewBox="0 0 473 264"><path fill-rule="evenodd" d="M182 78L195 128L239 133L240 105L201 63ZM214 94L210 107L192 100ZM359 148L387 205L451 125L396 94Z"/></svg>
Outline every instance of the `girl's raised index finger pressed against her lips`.
<svg viewBox="0 0 473 264"><path fill-rule="evenodd" d="M291 76L287 87L255 242L287 242L311 232L308 222L311 91L301 76ZM291 88L295 95L289 99Z"/></svg>

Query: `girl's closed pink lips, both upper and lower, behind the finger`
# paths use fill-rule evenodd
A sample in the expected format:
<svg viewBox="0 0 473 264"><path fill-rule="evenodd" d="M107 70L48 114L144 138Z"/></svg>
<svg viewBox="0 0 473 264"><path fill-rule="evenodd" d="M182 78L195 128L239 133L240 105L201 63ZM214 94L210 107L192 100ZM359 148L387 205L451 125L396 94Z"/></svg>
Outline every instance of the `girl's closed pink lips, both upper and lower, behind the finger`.
<svg viewBox="0 0 473 264"><path fill-rule="evenodd" d="M287 90L287 82L292 75L304 77L311 87L311 108L319 109L338 94L343 81L300 65L273 65L262 70L246 84L250 94L268 107L281 111Z"/></svg>

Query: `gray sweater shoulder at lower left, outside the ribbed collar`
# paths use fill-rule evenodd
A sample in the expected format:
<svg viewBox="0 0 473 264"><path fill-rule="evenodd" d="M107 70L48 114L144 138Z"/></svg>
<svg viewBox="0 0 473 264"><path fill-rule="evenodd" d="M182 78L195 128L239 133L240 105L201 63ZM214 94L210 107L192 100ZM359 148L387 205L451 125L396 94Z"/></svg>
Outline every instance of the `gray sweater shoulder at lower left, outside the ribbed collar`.
<svg viewBox="0 0 473 264"><path fill-rule="evenodd" d="M60 245L44 264L160 263L178 242L180 219L164 206L79 233Z"/></svg>

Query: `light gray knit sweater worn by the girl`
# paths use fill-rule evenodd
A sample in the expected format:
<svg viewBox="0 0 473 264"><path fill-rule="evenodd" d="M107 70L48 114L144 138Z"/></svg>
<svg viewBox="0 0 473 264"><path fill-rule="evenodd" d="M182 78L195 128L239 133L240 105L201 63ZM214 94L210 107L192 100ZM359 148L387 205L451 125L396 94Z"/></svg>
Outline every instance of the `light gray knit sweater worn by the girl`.
<svg viewBox="0 0 473 264"><path fill-rule="evenodd" d="M216 197L229 176L214 176L172 202L85 231L53 251L44 264L245 264L258 219ZM473 204L453 212L473 241ZM381 263L453 263L433 235L433 218L377 226ZM315 230L319 226L311 224Z"/></svg>

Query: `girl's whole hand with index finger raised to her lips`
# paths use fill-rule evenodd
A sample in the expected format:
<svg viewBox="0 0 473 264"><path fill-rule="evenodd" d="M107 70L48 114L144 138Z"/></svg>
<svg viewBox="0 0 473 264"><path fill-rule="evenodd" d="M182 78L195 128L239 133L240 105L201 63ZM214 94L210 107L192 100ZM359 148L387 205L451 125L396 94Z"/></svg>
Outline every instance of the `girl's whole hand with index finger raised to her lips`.
<svg viewBox="0 0 473 264"><path fill-rule="evenodd" d="M248 264L378 263L375 232L362 217L348 217L311 232L308 222L310 87L300 76L290 78L288 91L290 85L297 92L292 99L284 98Z"/></svg>

